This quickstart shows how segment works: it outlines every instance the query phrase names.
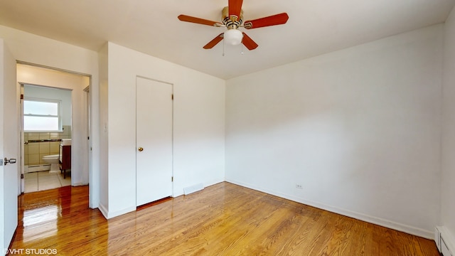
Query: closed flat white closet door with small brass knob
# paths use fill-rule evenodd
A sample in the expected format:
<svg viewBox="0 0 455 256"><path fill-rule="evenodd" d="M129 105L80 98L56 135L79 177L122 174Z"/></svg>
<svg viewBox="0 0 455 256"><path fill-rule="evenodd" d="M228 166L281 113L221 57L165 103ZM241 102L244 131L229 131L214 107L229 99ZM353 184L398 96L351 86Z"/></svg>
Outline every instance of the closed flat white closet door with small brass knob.
<svg viewBox="0 0 455 256"><path fill-rule="evenodd" d="M136 205L172 195L172 85L136 80Z"/></svg>

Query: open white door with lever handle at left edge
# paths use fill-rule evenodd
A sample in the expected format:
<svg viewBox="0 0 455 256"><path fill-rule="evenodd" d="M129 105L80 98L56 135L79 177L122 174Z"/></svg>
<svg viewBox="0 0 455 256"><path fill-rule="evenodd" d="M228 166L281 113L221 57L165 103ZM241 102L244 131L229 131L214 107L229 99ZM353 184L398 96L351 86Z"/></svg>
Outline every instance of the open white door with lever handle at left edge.
<svg viewBox="0 0 455 256"><path fill-rule="evenodd" d="M9 247L17 227L17 196L19 164L7 164L18 159L18 86L16 60L0 39L0 228L1 253Z"/></svg>

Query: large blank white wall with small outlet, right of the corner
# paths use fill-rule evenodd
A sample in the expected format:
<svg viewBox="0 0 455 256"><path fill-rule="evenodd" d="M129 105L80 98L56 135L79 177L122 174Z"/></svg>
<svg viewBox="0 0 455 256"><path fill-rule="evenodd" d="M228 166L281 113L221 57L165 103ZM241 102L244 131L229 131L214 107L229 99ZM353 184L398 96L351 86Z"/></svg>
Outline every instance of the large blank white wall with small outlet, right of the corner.
<svg viewBox="0 0 455 256"><path fill-rule="evenodd" d="M227 181L433 238L442 29L228 80Z"/></svg>

